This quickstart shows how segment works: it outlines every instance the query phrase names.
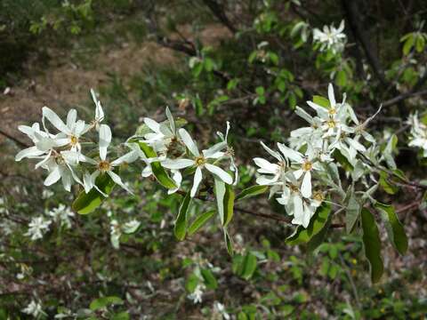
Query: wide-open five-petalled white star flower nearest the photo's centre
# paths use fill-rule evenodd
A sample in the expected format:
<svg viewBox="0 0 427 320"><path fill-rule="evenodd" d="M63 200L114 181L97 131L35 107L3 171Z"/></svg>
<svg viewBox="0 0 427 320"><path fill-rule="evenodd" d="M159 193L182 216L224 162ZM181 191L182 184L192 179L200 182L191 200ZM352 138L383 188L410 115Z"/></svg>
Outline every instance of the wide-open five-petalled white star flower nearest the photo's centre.
<svg viewBox="0 0 427 320"><path fill-rule="evenodd" d="M215 164L209 164L209 159L218 159L222 156L222 153L219 152L222 150L222 148L226 147L225 142L220 142L216 145L214 145L211 148L208 148L206 150L202 151L202 154L198 151L196 142L191 139L189 132L187 132L185 129L180 129L179 134L181 136L181 140L184 142L185 146L189 149L189 154L192 156L191 159L165 159L162 162L162 165L165 168L173 169L173 170L180 170L184 168L188 168L190 166L196 167L196 172L194 174L194 181L193 181L193 187L191 188L190 196L194 197L196 196L198 186L200 182L202 181L202 169L206 169L207 171L214 174L214 176L218 177L222 181L224 181L227 184L232 184L233 179L231 178L230 174L228 172L225 172L220 168L219 166Z"/></svg>

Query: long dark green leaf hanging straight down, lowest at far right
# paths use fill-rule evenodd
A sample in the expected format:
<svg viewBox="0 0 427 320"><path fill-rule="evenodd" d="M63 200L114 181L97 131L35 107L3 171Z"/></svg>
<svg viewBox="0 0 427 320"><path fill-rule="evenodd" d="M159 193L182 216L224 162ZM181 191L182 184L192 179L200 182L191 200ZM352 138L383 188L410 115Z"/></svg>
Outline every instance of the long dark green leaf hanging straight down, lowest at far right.
<svg viewBox="0 0 427 320"><path fill-rule="evenodd" d="M367 208L362 209L363 246L369 261L371 280L376 283L383 276L384 266L381 258L381 240L374 216Z"/></svg>

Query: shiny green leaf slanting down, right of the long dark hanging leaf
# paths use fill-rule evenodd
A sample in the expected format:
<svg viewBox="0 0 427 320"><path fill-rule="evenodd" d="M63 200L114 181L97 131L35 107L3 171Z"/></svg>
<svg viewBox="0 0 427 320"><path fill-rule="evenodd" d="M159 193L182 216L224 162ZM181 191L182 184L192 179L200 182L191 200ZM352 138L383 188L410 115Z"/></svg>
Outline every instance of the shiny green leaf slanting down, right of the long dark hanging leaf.
<svg viewBox="0 0 427 320"><path fill-rule="evenodd" d="M377 202L375 204L375 208L381 214L391 243L400 254L405 254L407 252L407 234L405 233L403 225L399 221L394 207L389 204L381 204Z"/></svg>

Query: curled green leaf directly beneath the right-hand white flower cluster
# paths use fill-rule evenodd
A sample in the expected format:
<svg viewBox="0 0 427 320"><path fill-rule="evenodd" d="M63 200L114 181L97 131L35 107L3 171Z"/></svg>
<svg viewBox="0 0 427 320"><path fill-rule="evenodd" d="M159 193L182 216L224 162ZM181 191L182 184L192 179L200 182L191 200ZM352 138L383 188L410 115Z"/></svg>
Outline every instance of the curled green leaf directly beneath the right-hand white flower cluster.
<svg viewBox="0 0 427 320"><path fill-rule="evenodd" d="M326 202L321 204L311 217L309 226L307 228L298 226L295 232L286 238L286 244L308 243L313 236L316 236L325 227L330 212L331 204Z"/></svg>

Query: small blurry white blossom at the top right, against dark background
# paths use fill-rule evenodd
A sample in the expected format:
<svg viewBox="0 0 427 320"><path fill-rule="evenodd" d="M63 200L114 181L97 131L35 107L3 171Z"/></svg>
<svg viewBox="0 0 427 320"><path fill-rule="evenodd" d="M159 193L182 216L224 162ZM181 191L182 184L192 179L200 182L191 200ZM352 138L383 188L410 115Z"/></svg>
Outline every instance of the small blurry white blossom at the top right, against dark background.
<svg viewBox="0 0 427 320"><path fill-rule="evenodd" d="M330 49L332 52L342 52L346 42L347 36L342 32L344 30L344 20L341 21L340 27L335 28L334 25L330 27L324 26L323 32L318 29L313 29L313 41L320 44L320 51Z"/></svg>

